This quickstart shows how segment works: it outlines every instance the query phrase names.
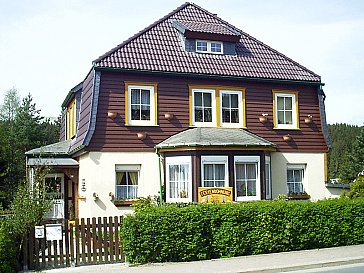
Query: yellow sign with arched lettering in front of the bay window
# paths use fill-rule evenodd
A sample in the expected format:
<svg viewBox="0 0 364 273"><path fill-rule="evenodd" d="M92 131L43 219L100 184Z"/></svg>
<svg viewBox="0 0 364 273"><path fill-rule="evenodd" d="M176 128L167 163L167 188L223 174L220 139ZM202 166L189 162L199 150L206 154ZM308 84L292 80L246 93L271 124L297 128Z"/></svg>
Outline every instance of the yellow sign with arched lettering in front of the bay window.
<svg viewBox="0 0 364 273"><path fill-rule="evenodd" d="M233 201L233 188L205 188L198 187L199 203L226 204Z"/></svg>

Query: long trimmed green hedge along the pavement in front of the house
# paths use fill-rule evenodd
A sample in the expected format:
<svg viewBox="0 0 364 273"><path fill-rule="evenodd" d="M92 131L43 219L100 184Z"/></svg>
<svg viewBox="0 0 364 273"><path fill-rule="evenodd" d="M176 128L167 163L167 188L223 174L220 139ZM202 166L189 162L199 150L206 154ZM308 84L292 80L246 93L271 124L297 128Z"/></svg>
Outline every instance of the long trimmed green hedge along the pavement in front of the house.
<svg viewBox="0 0 364 273"><path fill-rule="evenodd" d="M364 199L162 206L124 219L131 263L193 261L364 243Z"/></svg>

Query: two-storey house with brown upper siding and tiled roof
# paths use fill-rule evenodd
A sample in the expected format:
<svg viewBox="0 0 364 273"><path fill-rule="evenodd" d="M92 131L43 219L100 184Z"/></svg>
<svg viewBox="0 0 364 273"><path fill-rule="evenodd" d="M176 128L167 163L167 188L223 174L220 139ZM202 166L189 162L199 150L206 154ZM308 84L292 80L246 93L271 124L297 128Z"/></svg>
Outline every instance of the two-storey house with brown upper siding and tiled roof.
<svg viewBox="0 0 364 273"><path fill-rule="evenodd" d="M65 218L124 214L137 197L318 200L329 140L320 76L185 3L93 61L63 103L52 166ZM61 200L61 201L62 201ZM60 202L61 202L60 201Z"/></svg>

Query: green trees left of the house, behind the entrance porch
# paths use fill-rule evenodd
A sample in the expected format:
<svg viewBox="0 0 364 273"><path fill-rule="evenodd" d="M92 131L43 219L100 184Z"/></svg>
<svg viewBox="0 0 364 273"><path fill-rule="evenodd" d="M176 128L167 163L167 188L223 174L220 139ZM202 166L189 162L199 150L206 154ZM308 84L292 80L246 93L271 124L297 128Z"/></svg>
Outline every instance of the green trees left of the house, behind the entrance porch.
<svg viewBox="0 0 364 273"><path fill-rule="evenodd" d="M20 100L16 89L6 92L0 104L0 203L4 207L25 181L25 152L58 139L59 123L44 119L30 94Z"/></svg>

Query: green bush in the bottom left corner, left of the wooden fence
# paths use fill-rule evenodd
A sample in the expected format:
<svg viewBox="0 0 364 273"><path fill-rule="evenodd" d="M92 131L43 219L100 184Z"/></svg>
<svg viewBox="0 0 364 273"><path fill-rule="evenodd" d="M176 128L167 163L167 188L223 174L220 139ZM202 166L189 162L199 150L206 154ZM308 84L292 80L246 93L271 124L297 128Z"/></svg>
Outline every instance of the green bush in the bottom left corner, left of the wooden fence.
<svg viewBox="0 0 364 273"><path fill-rule="evenodd" d="M0 272L15 272L18 244L0 220Z"/></svg>

